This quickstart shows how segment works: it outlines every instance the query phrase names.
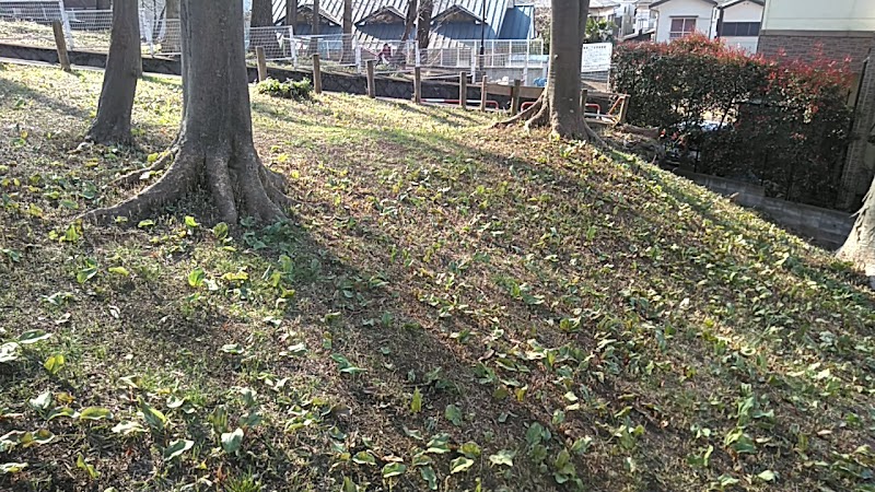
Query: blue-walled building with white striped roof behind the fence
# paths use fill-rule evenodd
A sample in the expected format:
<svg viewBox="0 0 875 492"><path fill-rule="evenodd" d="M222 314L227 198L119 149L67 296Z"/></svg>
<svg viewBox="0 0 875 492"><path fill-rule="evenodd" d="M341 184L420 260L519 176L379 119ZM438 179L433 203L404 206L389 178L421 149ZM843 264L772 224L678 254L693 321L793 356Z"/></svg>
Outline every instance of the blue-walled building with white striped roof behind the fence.
<svg viewBox="0 0 875 492"><path fill-rule="evenodd" d="M359 21L376 12L383 7L392 7L401 14L407 13L408 0L355 0L352 2L353 33L362 43L377 43L382 40L400 40L404 34L404 22L399 20L392 24L358 25ZM312 7L312 0L299 0L299 8ZM486 25L480 22L447 22L432 27L430 47L448 47L454 40L460 39L528 39L534 36L532 19L534 5L516 5L508 9L505 0L435 0L434 12L436 16L450 8L460 7L477 17L483 15L486 8ZM342 19L343 0L320 0L319 10L330 19ZM285 0L273 1L275 17L282 21L285 16ZM340 26L320 25L319 34L340 34ZM308 35L310 26L299 24L295 33ZM412 35L411 35L412 38Z"/></svg>

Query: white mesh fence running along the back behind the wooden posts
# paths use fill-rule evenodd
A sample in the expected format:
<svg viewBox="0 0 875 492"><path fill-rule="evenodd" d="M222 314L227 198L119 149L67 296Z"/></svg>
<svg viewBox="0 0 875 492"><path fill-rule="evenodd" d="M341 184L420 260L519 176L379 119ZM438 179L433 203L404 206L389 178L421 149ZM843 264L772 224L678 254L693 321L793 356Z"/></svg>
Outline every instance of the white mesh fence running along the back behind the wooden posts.
<svg viewBox="0 0 875 492"><path fill-rule="evenodd" d="M61 21L70 49L109 49L113 12L65 9L62 0L0 0L0 43L54 48L55 21ZM143 54L178 56L179 20L164 19L162 5L141 1L140 39ZM364 73L365 63L374 60L380 74L409 75L413 67L422 67L429 79L457 80L464 71L471 82L487 75L508 82L521 79L526 85L540 85L547 77L548 57L541 39L458 39L451 46L418 49L415 42L360 42L340 34L295 36L291 27L268 26L246 28L245 43L252 61L256 48L261 47L268 61L294 68L311 67L313 55L318 54L327 71ZM611 50L609 43L584 45L584 80L607 82Z"/></svg>

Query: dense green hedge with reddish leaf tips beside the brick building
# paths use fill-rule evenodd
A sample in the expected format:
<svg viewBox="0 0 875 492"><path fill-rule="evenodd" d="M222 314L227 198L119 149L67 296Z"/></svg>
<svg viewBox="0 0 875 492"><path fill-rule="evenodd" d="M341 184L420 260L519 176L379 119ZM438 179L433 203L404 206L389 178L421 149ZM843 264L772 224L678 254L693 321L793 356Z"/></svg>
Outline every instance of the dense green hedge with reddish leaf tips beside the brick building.
<svg viewBox="0 0 875 492"><path fill-rule="evenodd" d="M629 121L696 142L696 171L836 203L852 115L847 63L766 59L690 36L619 45L614 65L614 90L631 95ZM707 120L718 129L703 131Z"/></svg>

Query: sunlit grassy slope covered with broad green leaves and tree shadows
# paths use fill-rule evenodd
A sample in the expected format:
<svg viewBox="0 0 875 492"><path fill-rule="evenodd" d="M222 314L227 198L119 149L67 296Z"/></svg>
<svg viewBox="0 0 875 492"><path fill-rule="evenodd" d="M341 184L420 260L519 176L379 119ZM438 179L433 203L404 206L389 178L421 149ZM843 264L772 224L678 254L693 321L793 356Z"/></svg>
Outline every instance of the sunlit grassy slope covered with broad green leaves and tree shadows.
<svg viewBox="0 0 875 492"><path fill-rule="evenodd" d="M453 491L875 487L873 297L754 214L645 164L483 130L481 115L255 95L261 156L301 201L294 225L220 241L186 226L195 200L155 225L52 239L147 160L68 153L100 77L0 71L0 338L52 335L0 363L0 435L55 435L0 452L30 464L0 490L327 491L348 477L418 491L427 460ZM179 95L141 83L143 148L170 143ZM28 400L44 391L40 412ZM164 429L115 433L148 427L138 399ZM113 415L46 420L63 406ZM260 414L234 455L211 423L223 411L229 431ZM444 433L448 453L420 453ZM176 440L194 447L165 461ZM481 454L465 447L470 468L451 475L466 442ZM513 467L490 460L500 450ZM406 472L384 480L395 461Z"/></svg>

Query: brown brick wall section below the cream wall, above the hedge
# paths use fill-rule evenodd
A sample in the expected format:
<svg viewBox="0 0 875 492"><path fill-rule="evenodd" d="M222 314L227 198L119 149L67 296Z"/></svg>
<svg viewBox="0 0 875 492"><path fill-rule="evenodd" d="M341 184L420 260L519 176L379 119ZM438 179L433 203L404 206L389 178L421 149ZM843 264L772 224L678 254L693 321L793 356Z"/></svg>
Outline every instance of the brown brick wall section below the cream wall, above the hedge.
<svg viewBox="0 0 875 492"><path fill-rule="evenodd" d="M818 55L837 61L850 58L852 70L859 72L870 49L875 52L875 33L763 31L757 52L775 56L783 50L789 58L805 61L813 61Z"/></svg>

